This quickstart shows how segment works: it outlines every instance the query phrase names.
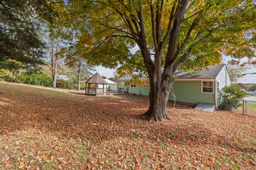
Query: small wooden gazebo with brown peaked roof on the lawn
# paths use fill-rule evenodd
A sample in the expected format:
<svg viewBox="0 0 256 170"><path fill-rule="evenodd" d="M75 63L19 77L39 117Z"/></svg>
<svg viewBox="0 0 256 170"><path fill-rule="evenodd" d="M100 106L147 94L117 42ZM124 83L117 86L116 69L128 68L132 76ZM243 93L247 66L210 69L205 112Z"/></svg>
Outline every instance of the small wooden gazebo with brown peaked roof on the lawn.
<svg viewBox="0 0 256 170"><path fill-rule="evenodd" d="M95 73L89 80L85 81L85 95L105 95L107 82L99 73Z"/></svg>

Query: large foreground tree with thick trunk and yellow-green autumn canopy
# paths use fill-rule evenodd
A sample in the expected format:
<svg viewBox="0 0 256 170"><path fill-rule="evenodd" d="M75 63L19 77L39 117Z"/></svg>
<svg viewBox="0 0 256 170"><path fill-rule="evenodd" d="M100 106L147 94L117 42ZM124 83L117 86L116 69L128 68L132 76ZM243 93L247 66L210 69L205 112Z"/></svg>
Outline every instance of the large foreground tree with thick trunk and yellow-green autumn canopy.
<svg viewBox="0 0 256 170"><path fill-rule="evenodd" d="M131 63L148 74L149 121L169 119L166 105L175 71L219 63L222 54L253 63L255 1L70 1L70 23L93 38L89 62ZM83 25L83 27L81 27ZM74 27L76 28L76 27ZM140 55L129 48L137 45Z"/></svg>

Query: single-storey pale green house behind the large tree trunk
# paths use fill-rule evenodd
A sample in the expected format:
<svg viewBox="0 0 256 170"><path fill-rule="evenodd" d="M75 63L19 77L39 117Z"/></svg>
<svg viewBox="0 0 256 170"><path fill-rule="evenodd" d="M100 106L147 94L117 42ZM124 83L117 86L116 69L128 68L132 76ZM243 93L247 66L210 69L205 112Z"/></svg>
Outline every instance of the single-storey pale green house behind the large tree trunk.
<svg viewBox="0 0 256 170"><path fill-rule="evenodd" d="M126 85L132 80L131 76L120 78L118 90L125 89L129 94L149 94L149 86L141 87L136 84ZM147 79L142 79L147 81ZM169 95L170 100L175 95L176 103L195 106L198 103L214 104L218 108L221 103L220 91L223 87L230 85L230 77L226 64L211 65L207 69L191 74L176 72L174 83Z"/></svg>

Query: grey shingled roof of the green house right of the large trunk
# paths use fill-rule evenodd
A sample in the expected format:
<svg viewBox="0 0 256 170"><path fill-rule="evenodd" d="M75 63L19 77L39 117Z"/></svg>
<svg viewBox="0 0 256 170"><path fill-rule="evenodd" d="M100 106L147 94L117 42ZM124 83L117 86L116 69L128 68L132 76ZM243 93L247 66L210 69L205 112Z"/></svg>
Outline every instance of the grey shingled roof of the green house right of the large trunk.
<svg viewBox="0 0 256 170"><path fill-rule="evenodd" d="M216 78L226 64L210 65L207 69L196 72L194 74L178 71L175 72L175 79L212 79Z"/></svg>

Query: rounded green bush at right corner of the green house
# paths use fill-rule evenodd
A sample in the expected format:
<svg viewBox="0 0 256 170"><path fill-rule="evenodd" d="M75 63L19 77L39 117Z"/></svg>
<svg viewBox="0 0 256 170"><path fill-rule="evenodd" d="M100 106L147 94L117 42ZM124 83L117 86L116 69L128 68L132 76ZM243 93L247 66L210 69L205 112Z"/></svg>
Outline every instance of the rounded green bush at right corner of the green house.
<svg viewBox="0 0 256 170"><path fill-rule="evenodd" d="M241 100L246 96L246 93L235 86L226 86L221 91L222 101L220 108L225 111L233 111L233 109L241 106Z"/></svg>

